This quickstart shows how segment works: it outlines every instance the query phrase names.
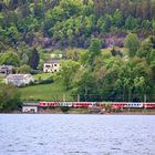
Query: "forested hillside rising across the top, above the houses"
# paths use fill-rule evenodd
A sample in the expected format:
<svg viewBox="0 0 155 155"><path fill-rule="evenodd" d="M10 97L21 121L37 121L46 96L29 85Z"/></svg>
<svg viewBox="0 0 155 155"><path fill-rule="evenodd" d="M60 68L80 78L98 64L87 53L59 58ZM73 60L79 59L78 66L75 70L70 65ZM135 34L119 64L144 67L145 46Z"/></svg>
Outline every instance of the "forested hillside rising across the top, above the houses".
<svg viewBox="0 0 155 155"><path fill-rule="evenodd" d="M0 50L87 48L92 35L102 46L123 46L128 31L140 39L155 30L155 0L2 0Z"/></svg>

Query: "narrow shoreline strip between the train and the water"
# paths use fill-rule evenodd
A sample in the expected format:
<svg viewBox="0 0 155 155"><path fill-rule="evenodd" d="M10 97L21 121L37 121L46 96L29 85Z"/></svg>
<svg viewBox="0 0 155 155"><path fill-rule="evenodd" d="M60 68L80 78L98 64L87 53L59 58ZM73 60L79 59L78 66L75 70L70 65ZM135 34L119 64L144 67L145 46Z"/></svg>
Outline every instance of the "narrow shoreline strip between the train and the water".
<svg viewBox="0 0 155 155"><path fill-rule="evenodd" d="M124 110L106 110L102 108L39 108L35 111L21 112L21 111L11 111L11 112L1 112L0 114L87 114L87 115L155 115L155 108L124 108Z"/></svg>

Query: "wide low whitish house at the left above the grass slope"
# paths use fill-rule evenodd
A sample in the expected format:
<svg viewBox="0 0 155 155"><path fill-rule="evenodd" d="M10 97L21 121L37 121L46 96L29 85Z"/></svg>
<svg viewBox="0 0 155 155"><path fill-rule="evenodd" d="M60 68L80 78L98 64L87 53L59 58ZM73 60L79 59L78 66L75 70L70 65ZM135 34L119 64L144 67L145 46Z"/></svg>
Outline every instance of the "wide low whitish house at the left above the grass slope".
<svg viewBox="0 0 155 155"><path fill-rule="evenodd" d="M6 83L12 83L13 85L21 86L34 82L31 74L9 74L6 78Z"/></svg>

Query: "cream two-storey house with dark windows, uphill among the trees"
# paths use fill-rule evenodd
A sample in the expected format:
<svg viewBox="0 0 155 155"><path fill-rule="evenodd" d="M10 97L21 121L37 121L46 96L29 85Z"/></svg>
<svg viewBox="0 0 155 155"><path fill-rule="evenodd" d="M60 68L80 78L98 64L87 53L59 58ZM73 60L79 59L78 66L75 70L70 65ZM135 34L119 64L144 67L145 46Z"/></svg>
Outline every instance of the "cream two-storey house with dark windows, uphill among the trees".
<svg viewBox="0 0 155 155"><path fill-rule="evenodd" d="M43 72L45 73L54 73L60 71L60 61L51 60L50 62L44 63Z"/></svg>

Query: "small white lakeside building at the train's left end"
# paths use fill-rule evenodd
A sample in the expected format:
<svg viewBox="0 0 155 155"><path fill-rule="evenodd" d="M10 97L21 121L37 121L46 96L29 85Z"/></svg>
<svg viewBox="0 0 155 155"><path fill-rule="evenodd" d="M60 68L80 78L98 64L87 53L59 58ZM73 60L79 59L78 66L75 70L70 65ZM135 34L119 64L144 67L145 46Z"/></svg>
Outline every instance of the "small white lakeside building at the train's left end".
<svg viewBox="0 0 155 155"><path fill-rule="evenodd" d="M38 113L37 103L23 103L22 113Z"/></svg>

